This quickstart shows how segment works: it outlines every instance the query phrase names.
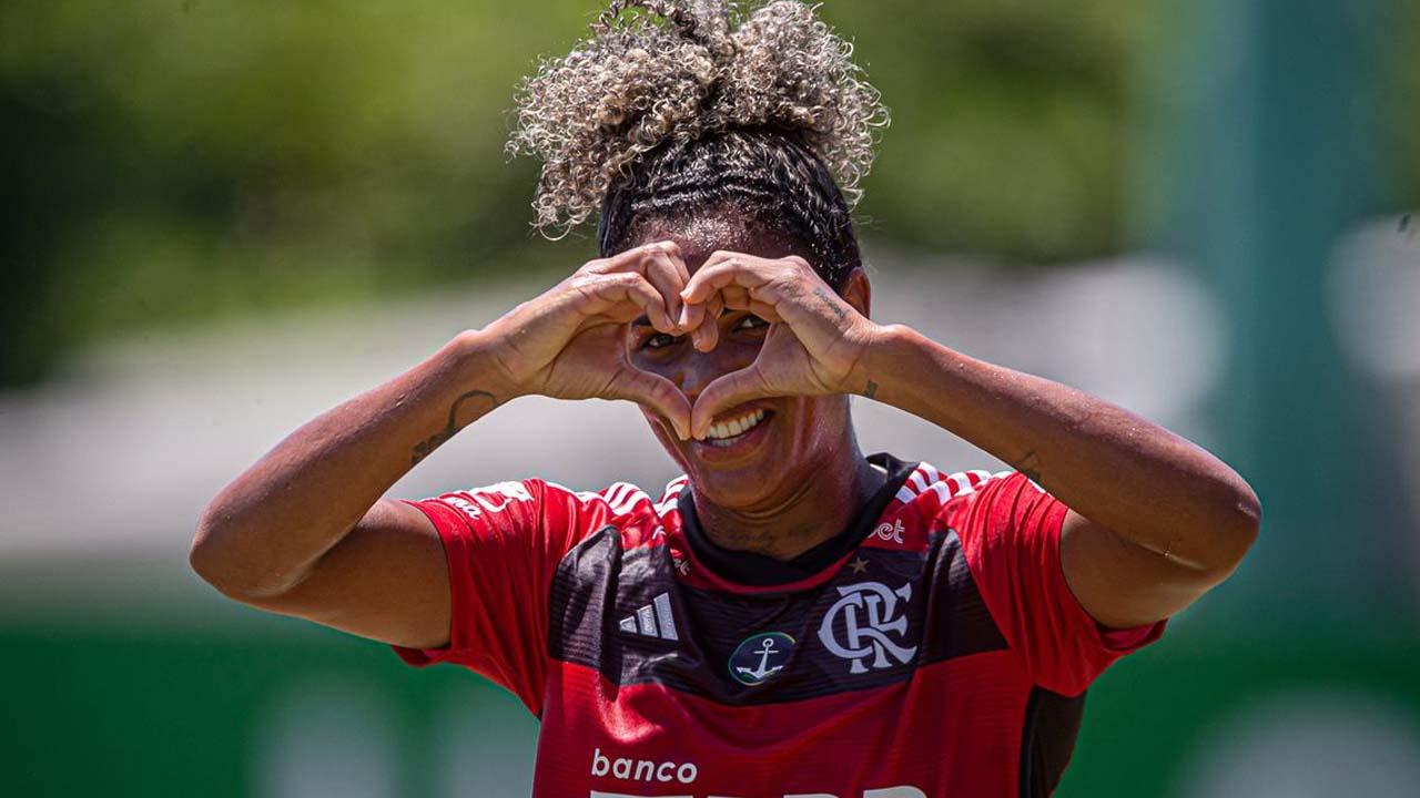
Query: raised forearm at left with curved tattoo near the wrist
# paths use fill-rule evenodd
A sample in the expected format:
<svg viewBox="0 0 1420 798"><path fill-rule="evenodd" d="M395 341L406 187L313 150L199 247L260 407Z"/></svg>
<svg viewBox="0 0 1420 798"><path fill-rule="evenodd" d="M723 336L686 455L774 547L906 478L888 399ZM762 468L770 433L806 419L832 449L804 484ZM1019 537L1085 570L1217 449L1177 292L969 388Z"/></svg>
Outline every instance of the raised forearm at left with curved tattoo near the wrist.
<svg viewBox="0 0 1420 798"><path fill-rule="evenodd" d="M510 399L479 332L297 429L207 507L192 564L227 592L274 595L419 460Z"/></svg>

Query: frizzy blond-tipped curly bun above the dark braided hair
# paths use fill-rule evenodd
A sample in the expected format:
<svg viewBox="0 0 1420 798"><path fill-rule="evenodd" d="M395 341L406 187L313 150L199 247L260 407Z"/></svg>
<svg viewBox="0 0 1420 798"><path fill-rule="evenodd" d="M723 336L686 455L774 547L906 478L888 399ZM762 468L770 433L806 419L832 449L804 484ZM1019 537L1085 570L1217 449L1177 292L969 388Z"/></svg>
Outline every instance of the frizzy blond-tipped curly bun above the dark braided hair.
<svg viewBox="0 0 1420 798"><path fill-rule="evenodd" d="M534 226L565 233L648 151L731 128L797 132L858 202L888 109L809 6L613 0L592 31L520 87L507 149L542 160Z"/></svg>

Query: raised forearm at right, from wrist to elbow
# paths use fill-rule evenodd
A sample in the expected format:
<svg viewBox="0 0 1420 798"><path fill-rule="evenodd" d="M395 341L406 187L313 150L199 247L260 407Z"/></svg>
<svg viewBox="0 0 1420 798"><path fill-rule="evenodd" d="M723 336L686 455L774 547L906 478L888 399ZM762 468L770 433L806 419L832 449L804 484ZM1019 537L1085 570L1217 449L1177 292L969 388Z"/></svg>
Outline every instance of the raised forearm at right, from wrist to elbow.
<svg viewBox="0 0 1420 798"><path fill-rule="evenodd" d="M1102 399L905 327L885 328L861 372L865 393L953 432L1177 564L1230 569L1257 532L1257 497L1233 469Z"/></svg>

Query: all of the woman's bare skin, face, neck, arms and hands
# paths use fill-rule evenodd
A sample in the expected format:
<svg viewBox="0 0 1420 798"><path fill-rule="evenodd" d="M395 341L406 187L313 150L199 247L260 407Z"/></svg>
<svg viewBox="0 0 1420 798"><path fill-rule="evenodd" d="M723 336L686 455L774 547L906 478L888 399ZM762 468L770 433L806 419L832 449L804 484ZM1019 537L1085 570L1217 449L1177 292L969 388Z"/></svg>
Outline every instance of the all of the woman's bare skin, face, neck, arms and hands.
<svg viewBox="0 0 1420 798"><path fill-rule="evenodd" d="M212 501L193 568L253 606L446 645L437 532L381 497L457 430L531 393L642 405L690 476L706 534L731 550L792 558L841 531L879 484L848 395L936 423L1064 501L1062 569L1105 626L1179 612L1252 544L1257 497L1216 457L1100 399L875 324L861 268L835 291L733 212L642 233L291 433ZM727 446L706 440L760 410Z"/></svg>

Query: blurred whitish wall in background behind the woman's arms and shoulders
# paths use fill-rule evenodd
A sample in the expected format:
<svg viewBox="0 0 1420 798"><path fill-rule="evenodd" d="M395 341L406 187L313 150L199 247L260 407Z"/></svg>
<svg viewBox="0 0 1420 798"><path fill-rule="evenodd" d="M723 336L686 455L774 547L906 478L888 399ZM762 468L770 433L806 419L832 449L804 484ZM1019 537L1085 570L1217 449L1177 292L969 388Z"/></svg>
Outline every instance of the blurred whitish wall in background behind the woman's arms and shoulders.
<svg viewBox="0 0 1420 798"><path fill-rule="evenodd" d="M1003 271L875 248L868 261L878 319L1069 382L1208 443L1200 406L1224 365L1228 331L1184 270L1135 257ZM155 619L207 612L212 592L187 572L187 541L226 480L298 425L542 288L454 287L152 332L87 352L62 379L0 395L0 615L34 618L72 602L91 613L151 605ZM949 470L998 466L944 430L856 402L866 452ZM655 490L674 473L630 405L521 399L466 429L393 493L525 476Z"/></svg>

